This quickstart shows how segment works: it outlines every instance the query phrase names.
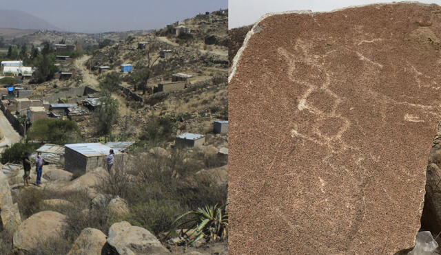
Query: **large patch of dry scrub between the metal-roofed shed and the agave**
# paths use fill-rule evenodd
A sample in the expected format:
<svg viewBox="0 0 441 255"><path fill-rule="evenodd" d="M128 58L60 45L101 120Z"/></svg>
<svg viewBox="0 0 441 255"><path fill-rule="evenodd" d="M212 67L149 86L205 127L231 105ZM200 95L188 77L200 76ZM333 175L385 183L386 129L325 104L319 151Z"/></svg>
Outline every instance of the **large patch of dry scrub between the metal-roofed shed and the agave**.
<svg viewBox="0 0 441 255"><path fill-rule="evenodd" d="M178 214L226 203L226 186L196 175L204 160L202 153L183 150L173 151L170 158L138 155L130 166L116 164L99 190L129 203L127 221L160 234L170 230ZM213 159L207 160L212 164Z"/></svg>

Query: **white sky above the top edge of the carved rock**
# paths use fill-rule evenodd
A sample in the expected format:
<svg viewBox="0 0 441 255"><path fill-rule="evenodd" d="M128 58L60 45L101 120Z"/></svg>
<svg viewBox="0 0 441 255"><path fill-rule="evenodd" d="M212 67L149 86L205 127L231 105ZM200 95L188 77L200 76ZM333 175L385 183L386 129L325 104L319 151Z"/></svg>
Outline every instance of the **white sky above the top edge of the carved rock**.
<svg viewBox="0 0 441 255"><path fill-rule="evenodd" d="M389 3L392 1L376 0L229 0L228 1L228 28L254 24L261 16L269 12L285 12L290 10L312 10L325 12L352 5L366 5L370 3ZM421 3L436 3L441 0L424 1Z"/></svg>

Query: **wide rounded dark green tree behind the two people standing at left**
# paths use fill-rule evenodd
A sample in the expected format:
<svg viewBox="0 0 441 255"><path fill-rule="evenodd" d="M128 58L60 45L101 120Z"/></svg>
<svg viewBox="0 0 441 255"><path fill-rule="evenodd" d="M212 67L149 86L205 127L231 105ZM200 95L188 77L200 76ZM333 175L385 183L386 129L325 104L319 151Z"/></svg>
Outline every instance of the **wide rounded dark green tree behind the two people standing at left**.
<svg viewBox="0 0 441 255"><path fill-rule="evenodd" d="M76 122L50 118L34 122L27 139L63 145L77 142L79 137L80 131Z"/></svg>

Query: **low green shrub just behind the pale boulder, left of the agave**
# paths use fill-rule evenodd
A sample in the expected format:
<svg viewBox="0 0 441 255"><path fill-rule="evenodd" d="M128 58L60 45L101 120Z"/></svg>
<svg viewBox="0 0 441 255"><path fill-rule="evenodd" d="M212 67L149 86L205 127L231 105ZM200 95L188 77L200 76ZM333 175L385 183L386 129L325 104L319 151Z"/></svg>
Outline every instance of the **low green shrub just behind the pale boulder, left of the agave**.
<svg viewBox="0 0 441 255"><path fill-rule="evenodd" d="M183 210L177 201L150 199L148 202L132 206L127 221L132 225L146 228L154 234L160 234L170 230L174 219L182 212Z"/></svg>

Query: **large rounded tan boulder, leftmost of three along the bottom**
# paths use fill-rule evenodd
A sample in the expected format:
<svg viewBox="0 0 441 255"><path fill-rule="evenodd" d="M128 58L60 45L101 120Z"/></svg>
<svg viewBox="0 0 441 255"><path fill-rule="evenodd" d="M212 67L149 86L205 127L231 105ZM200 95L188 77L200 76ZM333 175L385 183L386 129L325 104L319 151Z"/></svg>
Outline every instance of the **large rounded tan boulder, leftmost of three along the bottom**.
<svg viewBox="0 0 441 255"><path fill-rule="evenodd" d="M63 238L67 217L59 212L42 211L23 221L14 233L14 247L19 250L32 250L39 243Z"/></svg>

